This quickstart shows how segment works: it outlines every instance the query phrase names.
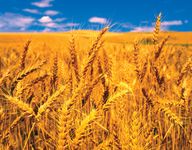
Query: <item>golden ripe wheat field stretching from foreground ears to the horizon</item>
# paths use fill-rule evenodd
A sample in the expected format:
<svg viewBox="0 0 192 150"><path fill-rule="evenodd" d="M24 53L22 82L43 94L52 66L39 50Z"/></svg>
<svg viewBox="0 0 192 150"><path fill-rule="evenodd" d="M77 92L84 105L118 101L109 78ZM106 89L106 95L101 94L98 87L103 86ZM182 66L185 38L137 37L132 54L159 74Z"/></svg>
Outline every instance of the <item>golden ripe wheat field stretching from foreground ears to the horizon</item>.
<svg viewBox="0 0 192 150"><path fill-rule="evenodd" d="M1 150L191 150L192 33L0 34Z"/></svg>

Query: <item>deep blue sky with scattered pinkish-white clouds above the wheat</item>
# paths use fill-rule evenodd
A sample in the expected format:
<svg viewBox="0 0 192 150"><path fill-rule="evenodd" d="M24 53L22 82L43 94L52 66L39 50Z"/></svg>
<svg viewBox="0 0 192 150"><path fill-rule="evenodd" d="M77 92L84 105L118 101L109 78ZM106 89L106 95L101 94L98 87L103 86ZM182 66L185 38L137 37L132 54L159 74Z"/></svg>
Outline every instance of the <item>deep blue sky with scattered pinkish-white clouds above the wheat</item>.
<svg viewBox="0 0 192 150"><path fill-rule="evenodd" d="M141 32L192 31L192 0L0 0L0 32L53 32L100 29Z"/></svg>

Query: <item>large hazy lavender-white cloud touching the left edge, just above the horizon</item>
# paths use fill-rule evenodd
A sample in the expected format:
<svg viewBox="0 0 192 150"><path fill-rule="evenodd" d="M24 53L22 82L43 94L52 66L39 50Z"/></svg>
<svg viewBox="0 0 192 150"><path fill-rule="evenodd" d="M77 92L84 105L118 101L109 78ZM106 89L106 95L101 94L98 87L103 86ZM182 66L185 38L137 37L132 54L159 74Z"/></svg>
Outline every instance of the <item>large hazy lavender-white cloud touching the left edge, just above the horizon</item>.
<svg viewBox="0 0 192 150"><path fill-rule="evenodd" d="M32 17L5 13L0 15L0 31L25 31L34 21Z"/></svg>

